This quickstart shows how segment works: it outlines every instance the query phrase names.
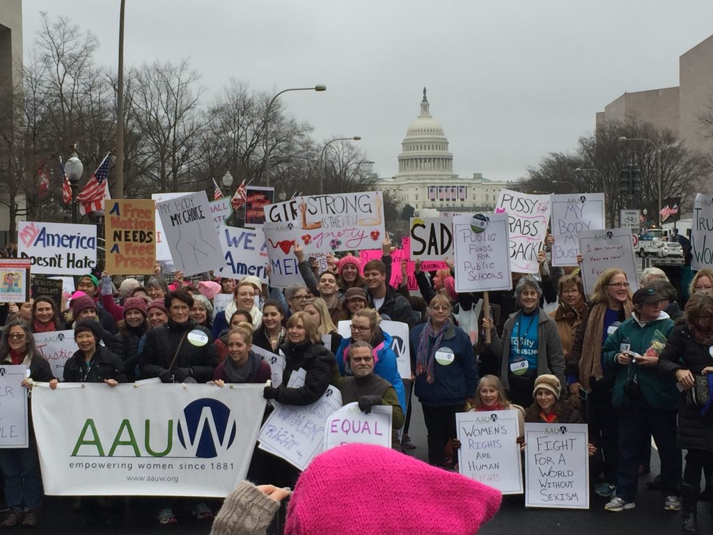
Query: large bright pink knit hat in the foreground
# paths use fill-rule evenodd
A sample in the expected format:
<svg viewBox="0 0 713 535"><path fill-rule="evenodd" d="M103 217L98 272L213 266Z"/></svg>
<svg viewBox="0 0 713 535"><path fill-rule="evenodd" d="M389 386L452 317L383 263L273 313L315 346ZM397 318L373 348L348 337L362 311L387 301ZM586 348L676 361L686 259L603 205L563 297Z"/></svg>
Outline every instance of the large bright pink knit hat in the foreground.
<svg viewBox="0 0 713 535"><path fill-rule="evenodd" d="M476 534L500 502L500 491L456 472L393 449L346 444L317 456L299 476L284 533Z"/></svg>

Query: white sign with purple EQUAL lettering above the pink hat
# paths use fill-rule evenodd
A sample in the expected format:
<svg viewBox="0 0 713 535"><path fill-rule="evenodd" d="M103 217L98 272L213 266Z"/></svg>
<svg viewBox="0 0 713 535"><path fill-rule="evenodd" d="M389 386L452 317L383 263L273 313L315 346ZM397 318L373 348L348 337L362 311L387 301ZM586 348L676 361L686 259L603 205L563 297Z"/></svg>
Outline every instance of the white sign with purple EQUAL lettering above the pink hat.
<svg viewBox="0 0 713 535"><path fill-rule="evenodd" d="M391 447L391 420L394 407L374 405L366 414L359 403L347 403L327 417L324 432L324 451L344 444L372 444Z"/></svg>

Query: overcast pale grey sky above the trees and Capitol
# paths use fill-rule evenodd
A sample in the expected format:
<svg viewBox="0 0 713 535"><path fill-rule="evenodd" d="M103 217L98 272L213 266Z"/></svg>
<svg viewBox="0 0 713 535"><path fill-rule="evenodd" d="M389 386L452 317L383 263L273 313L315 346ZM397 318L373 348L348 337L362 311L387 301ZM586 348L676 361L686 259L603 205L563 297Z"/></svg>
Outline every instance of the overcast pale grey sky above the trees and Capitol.
<svg viewBox="0 0 713 535"><path fill-rule="evenodd" d="M24 0L25 53L39 11L70 16L116 68L119 0ZM713 33L701 0L127 0L125 65L188 58L210 92L230 77L286 93L314 137L361 136L396 173L424 86L461 176L522 177L591 133L625 91L677 86L678 58ZM713 90L712 90L713 91Z"/></svg>

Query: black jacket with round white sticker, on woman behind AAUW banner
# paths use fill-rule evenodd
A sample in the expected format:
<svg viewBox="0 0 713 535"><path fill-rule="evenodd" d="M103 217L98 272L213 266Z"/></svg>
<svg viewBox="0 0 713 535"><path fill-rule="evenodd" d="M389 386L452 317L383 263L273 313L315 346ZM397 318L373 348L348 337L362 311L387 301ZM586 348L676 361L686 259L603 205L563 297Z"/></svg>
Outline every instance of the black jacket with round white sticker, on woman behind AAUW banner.
<svg viewBox="0 0 713 535"><path fill-rule="evenodd" d="M188 336L183 340L178 351L173 367L170 366L180 340L184 334L198 330L208 337L204 345L193 345ZM208 382L213 378L213 372L218 365L215 355L215 343L210 330L200 327L195 320L185 323L176 323L168 320L161 327L155 327L146 333L146 342L143 352L138 356L142 377L159 377L159 374L169 367L171 370L178 368L190 369L190 377L196 382Z"/></svg>

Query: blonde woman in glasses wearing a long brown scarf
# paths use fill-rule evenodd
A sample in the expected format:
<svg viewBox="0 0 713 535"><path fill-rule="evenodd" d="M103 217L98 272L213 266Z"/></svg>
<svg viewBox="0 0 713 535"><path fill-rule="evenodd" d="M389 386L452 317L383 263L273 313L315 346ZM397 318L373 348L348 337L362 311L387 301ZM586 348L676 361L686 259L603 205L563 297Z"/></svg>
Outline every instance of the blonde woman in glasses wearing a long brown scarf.
<svg viewBox="0 0 713 535"><path fill-rule="evenodd" d="M580 323L575 343L567 360L567 382L570 393L580 388L588 392L588 421L593 444L599 447L603 459L597 456L604 473L604 482L595 487L599 496L614 494L619 459L619 417L612 407L614 373L602 367L602 344L617 330L620 322L631 317L631 300L626 273L610 267L600 275L594 287L592 302Z"/></svg>

